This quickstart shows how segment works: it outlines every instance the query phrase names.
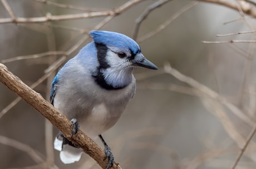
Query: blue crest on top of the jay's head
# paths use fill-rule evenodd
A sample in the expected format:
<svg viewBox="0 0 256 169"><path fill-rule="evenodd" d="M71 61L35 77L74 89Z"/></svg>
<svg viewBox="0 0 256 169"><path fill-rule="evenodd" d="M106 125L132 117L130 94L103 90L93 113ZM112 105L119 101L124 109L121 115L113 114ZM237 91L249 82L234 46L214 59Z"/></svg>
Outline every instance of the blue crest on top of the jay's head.
<svg viewBox="0 0 256 169"><path fill-rule="evenodd" d="M92 30L90 35L95 43L102 43L109 47L117 47L120 49L130 49L134 54L140 52L139 45L124 34L104 30Z"/></svg>

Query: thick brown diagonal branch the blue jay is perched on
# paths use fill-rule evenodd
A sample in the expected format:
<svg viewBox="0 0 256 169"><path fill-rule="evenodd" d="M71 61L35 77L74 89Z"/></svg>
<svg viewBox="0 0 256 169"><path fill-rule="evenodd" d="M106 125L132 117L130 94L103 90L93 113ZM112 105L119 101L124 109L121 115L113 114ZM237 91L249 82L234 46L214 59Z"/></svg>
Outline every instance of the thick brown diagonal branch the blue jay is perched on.
<svg viewBox="0 0 256 169"><path fill-rule="evenodd" d="M102 168L106 168L106 162L104 161L105 153L101 148L93 142L90 137L86 136L81 130L76 135L71 137L72 124L60 111L58 111L53 105L48 103L39 93L29 88L24 84L21 79L13 75L7 67L0 63L0 81L6 85L17 95L30 104L33 108L39 111L45 116L53 125L55 125L65 137L76 144L78 147L91 156ZM117 163L111 168L121 168Z"/></svg>

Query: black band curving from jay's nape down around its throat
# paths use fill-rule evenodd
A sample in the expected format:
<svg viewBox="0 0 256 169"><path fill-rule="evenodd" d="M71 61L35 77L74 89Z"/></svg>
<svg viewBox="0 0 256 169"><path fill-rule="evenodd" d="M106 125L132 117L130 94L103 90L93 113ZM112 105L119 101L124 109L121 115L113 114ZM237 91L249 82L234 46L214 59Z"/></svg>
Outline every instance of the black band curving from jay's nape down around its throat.
<svg viewBox="0 0 256 169"><path fill-rule="evenodd" d="M106 80L104 79L104 75L102 74L102 70L110 67L106 60L108 49L107 46L102 43L95 43L95 47L97 49L97 58L100 64L97 68L97 71L92 75L96 83L100 85L101 88L106 90L118 90L125 88L126 86L114 87L112 85L107 84Z"/></svg>

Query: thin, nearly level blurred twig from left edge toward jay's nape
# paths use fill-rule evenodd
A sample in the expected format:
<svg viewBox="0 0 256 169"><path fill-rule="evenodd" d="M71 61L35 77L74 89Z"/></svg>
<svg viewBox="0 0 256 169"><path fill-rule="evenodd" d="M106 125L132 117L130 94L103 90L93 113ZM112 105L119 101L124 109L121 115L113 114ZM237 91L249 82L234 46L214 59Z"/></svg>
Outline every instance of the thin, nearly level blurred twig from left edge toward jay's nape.
<svg viewBox="0 0 256 169"><path fill-rule="evenodd" d="M67 56L66 52L64 52L64 51L49 51L49 52L43 52L43 53L38 53L38 54L24 55L24 56L9 58L9 59L3 59L3 60L1 60L1 63L15 62L15 61L24 60L24 59L36 59L36 58L47 57L49 55L65 55L65 56Z"/></svg>

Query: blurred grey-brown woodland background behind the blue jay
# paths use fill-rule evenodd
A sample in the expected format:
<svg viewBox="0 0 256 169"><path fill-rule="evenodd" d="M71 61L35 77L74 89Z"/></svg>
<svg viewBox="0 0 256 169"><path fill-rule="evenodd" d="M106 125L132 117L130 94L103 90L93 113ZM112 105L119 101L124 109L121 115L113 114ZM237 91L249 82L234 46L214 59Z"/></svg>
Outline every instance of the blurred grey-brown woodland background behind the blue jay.
<svg viewBox="0 0 256 169"><path fill-rule="evenodd" d="M0 62L48 100L56 71L91 41L90 30L126 34L159 70L135 70L136 94L103 134L116 162L232 168L248 143L236 168L256 168L256 138L247 140L256 121L256 2L211 2L2 0ZM120 13L72 18L114 9ZM52 16L71 19L37 22ZM19 17L35 20L4 20ZM86 154L64 165L52 146L57 132L0 84L0 168L100 168Z"/></svg>

